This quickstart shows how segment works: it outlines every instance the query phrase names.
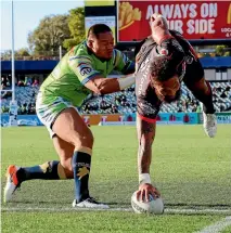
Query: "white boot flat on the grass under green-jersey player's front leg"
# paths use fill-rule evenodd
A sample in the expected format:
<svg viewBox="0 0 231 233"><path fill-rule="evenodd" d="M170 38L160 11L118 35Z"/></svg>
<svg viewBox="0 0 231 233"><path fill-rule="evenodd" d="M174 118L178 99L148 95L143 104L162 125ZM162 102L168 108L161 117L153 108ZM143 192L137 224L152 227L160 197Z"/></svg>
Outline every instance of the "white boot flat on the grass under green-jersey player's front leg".
<svg viewBox="0 0 231 233"><path fill-rule="evenodd" d="M80 203L77 203L77 200L74 199L73 207L89 208L89 209L108 209L110 208L107 205L97 202L93 197L88 197L87 199Z"/></svg>

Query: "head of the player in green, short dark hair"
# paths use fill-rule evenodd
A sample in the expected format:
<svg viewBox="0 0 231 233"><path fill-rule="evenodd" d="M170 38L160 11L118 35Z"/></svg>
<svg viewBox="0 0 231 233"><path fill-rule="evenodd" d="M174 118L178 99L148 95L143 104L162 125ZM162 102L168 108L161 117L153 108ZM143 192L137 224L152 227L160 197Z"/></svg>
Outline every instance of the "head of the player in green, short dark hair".
<svg viewBox="0 0 231 233"><path fill-rule="evenodd" d="M88 30L88 47L100 59L113 56L114 37L111 28L105 24L95 24Z"/></svg>

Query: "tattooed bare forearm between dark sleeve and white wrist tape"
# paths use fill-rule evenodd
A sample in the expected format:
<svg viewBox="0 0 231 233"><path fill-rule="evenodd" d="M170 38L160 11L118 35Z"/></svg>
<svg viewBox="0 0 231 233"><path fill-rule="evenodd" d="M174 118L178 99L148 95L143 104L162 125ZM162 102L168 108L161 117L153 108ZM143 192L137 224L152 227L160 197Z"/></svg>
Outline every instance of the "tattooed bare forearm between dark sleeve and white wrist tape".
<svg viewBox="0 0 231 233"><path fill-rule="evenodd" d="M152 160L152 144L155 137L155 122L147 122L137 117L137 132L139 141L138 169L139 173L150 173Z"/></svg>

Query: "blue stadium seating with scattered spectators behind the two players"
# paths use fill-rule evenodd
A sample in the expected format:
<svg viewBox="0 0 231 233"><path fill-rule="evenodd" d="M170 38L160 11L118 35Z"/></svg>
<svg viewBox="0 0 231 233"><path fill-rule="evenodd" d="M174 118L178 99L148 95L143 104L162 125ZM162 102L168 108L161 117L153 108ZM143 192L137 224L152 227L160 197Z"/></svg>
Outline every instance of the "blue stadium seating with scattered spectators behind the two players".
<svg viewBox="0 0 231 233"><path fill-rule="evenodd" d="M2 85L8 87L10 81L4 79ZM214 92L214 103L217 112L231 111L231 82L210 82ZM25 79L18 81L15 88L15 96L18 105L18 114L36 114L35 101L39 90L38 80ZM162 113L201 112L200 103L184 85L181 87L182 95L178 102L163 104ZM8 113L12 93L1 91L1 113ZM91 95L79 108L80 114L129 114L136 113L134 86L125 91L94 96Z"/></svg>

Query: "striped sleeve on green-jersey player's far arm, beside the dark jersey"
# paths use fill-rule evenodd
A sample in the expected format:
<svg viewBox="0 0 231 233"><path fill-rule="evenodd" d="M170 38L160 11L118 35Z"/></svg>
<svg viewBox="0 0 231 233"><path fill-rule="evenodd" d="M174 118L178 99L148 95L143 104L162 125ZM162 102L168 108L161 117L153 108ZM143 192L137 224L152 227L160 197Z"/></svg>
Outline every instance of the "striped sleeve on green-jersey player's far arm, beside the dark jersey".
<svg viewBox="0 0 231 233"><path fill-rule="evenodd" d="M123 52L119 50L113 51L114 56L114 69L121 72L123 74L131 74L134 72L134 62L129 60Z"/></svg>

